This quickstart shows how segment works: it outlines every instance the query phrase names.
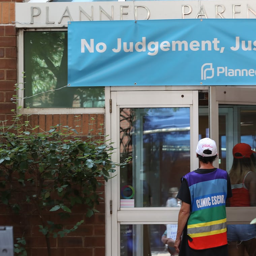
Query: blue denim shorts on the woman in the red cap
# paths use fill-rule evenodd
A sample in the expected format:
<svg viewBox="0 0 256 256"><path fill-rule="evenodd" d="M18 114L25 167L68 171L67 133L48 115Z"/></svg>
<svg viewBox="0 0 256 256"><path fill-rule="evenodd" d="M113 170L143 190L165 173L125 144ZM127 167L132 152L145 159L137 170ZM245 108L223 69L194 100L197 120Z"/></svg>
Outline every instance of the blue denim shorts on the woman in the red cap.
<svg viewBox="0 0 256 256"><path fill-rule="evenodd" d="M247 241L256 237L256 224L227 225L228 242Z"/></svg>

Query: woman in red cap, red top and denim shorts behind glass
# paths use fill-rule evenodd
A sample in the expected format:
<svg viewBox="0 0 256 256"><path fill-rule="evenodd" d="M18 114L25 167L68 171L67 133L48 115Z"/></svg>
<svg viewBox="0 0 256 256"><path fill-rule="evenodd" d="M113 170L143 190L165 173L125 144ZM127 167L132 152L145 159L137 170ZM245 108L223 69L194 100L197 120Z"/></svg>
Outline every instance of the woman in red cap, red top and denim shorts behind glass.
<svg viewBox="0 0 256 256"><path fill-rule="evenodd" d="M256 170L251 146L238 143L233 148L233 164L229 172L232 197L229 206L256 206ZM256 256L256 225L227 226L228 254Z"/></svg>

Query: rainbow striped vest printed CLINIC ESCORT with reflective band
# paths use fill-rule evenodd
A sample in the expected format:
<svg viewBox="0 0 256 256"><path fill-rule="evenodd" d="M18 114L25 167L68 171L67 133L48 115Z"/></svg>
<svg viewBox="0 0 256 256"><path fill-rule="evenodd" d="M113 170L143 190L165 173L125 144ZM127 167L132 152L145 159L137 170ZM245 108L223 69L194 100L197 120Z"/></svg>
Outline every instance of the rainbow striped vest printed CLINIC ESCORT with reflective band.
<svg viewBox="0 0 256 256"><path fill-rule="evenodd" d="M216 169L210 173L187 173L191 195L188 218L188 244L202 250L227 244L226 198L227 172Z"/></svg>

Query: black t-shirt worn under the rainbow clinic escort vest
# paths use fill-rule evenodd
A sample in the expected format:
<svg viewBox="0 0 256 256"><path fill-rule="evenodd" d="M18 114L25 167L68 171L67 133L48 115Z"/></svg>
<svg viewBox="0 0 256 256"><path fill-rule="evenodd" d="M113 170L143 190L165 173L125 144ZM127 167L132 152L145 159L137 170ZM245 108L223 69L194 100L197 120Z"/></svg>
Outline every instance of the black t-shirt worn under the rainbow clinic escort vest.
<svg viewBox="0 0 256 256"><path fill-rule="evenodd" d="M209 173L212 171L215 171L217 168L213 169L197 169L195 172L197 173ZM227 198L232 196L232 190L231 190L231 183L228 175L227 179ZM177 198L181 199L183 202L188 203L191 205L191 197L190 197L190 190L188 187L188 183L185 179L182 180L181 188L179 190L179 193L177 195ZM183 230L183 237L181 241L180 246L180 253L179 256L227 256L228 255L228 249L227 245L205 249L205 250L194 250L189 247L188 245L188 239L187 239L187 225L185 226Z"/></svg>

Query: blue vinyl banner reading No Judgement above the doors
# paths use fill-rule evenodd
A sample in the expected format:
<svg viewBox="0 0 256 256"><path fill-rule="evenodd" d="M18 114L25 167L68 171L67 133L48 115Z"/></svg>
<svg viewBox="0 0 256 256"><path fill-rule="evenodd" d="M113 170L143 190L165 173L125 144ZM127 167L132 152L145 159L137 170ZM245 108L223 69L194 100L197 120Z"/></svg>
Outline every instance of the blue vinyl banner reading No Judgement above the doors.
<svg viewBox="0 0 256 256"><path fill-rule="evenodd" d="M255 19L68 24L70 86L255 85Z"/></svg>

